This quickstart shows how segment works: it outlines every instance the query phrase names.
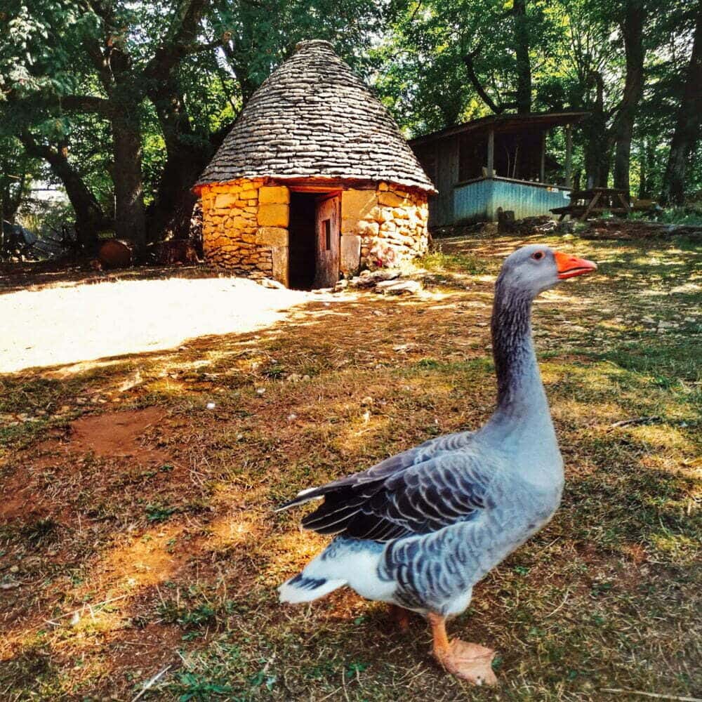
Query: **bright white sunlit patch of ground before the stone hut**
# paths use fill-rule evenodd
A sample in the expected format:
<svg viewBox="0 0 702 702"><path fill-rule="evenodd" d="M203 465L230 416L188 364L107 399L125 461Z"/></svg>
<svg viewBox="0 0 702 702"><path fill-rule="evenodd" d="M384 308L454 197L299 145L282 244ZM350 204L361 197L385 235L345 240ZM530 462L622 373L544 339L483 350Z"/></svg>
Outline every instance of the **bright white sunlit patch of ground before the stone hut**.
<svg viewBox="0 0 702 702"><path fill-rule="evenodd" d="M319 295L239 278L138 280L0 296L0 373L178 346L274 324Z"/></svg>

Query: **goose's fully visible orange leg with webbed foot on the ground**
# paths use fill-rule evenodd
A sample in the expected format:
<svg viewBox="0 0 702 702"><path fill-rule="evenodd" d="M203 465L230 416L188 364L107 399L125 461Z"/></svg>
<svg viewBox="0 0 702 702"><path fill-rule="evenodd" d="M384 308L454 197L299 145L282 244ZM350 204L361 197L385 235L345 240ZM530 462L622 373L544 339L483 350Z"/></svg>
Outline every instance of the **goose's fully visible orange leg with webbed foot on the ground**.
<svg viewBox="0 0 702 702"><path fill-rule="evenodd" d="M427 618L434 637L434 657L445 670L475 685L497 684L491 665L495 651L459 639L449 641L446 617L430 613Z"/></svg>

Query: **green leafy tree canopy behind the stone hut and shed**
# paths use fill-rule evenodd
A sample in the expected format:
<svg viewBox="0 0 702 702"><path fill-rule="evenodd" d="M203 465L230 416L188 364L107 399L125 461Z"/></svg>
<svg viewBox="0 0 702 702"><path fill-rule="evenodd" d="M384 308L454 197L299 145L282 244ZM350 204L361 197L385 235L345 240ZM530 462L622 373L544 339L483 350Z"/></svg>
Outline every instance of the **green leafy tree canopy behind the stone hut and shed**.
<svg viewBox="0 0 702 702"><path fill-rule="evenodd" d="M119 219L114 122L128 118L138 135L133 157L141 162L143 200L150 213L158 211L164 192L192 185L253 91L300 39L310 38L329 39L408 135L513 111L524 79L522 46L532 110L594 111L575 137L574 168L584 182L588 143L600 140L611 154L607 134L626 71L622 26L632 6L526 0L520 15L512 0L107 0L87 6L7 0L0 13L3 208L13 211L17 173L65 183L55 165L47 175L37 153L23 150L29 135L67 159L105 218ZM695 9L682 0L642 0L642 7L645 84L630 176L634 194L655 198L664 185ZM548 147L563 160L562 135L552 134ZM690 193L702 187L697 156L690 160ZM192 173L169 181L178 164L190 164ZM21 187L19 194L25 195Z"/></svg>

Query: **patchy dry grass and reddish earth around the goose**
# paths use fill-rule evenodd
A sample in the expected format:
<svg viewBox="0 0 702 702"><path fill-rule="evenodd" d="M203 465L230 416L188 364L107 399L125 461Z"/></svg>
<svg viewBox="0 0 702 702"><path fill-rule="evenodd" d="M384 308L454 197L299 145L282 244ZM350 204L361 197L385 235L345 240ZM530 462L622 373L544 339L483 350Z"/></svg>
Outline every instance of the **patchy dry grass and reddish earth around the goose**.
<svg viewBox="0 0 702 702"><path fill-rule="evenodd" d="M498 651L498 691L443 675L419 619L400 633L346 591L275 598L324 539L274 505L489 416L491 281L522 242L475 237L421 262L422 296L345 294L256 333L1 376L0 413L23 418L0 430L0 698L131 700L168 666L141 699L701 696L702 252L545 241L600 274L535 310L562 508L451 625ZM153 407L124 449L77 448L85 418L110 433Z"/></svg>

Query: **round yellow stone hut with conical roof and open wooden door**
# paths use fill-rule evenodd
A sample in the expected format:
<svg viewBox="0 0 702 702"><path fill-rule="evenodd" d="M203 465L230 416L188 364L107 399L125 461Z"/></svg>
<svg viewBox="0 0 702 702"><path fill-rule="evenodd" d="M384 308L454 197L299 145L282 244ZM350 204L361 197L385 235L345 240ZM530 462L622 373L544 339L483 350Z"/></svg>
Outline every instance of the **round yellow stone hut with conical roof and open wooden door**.
<svg viewBox="0 0 702 702"><path fill-rule="evenodd" d="M208 261L312 289L424 253L435 189L385 107L315 40L252 95L195 192Z"/></svg>

